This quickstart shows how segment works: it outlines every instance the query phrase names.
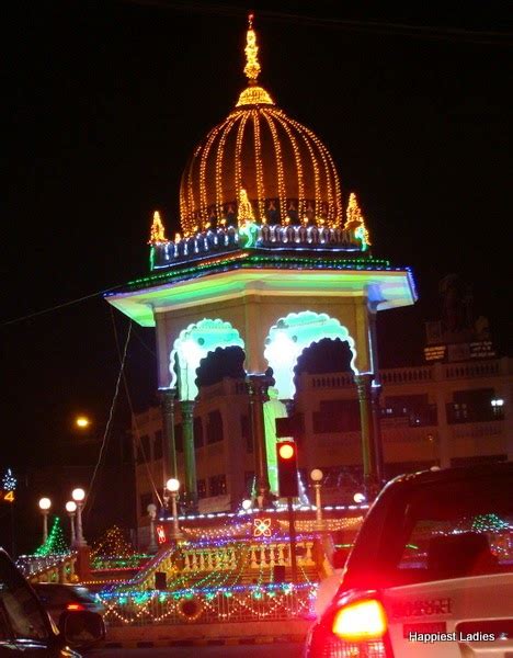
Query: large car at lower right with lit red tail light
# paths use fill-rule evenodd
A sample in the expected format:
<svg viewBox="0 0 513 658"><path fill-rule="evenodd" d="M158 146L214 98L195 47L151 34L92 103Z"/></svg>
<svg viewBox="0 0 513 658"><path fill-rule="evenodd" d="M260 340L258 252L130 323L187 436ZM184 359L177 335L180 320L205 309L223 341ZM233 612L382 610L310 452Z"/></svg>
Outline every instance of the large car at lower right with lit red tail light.
<svg viewBox="0 0 513 658"><path fill-rule="evenodd" d="M304 656L513 657L513 462L389 481Z"/></svg>

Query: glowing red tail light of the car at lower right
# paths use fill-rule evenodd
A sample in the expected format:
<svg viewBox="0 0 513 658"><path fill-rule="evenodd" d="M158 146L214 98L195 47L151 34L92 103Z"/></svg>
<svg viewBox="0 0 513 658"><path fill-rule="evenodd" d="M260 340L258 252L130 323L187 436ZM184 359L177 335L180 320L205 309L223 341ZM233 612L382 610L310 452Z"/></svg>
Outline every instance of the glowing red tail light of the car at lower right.
<svg viewBox="0 0 513 658"><path fill-rule="evenodd" d="M309 649L312 658L392 658L379 599L362 592L340 599L312 629Z"/></svg>

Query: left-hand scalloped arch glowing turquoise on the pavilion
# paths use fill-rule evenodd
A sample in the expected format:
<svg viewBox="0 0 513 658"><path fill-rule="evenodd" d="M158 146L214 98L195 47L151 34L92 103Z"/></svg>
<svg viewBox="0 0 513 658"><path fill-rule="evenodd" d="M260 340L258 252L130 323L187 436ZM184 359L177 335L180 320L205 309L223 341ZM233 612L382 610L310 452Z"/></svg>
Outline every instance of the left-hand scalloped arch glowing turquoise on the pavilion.
<svg viewBox="0 0 513 658"><path fill-rule="evenodd" d="M219 318L215 320L204 318L189 325L186 329L182 329L173 343L169 363L171 386L173 387L178 383L180 400L196 398L196 370L200 367L202 359L217 348L230 347L244 349L244 341L230 322ZM178 372L175 360L178 360Z"/></svg>

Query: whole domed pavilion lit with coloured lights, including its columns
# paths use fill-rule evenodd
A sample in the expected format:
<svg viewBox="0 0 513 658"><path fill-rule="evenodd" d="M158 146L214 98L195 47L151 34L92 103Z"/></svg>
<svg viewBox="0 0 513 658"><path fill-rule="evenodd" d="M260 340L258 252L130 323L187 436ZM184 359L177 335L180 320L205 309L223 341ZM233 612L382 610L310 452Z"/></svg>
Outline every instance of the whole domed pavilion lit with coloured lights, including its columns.
<svg viewBox="0 0 513 658"><path fill-rule="evenodd" d="M196 370L209 352L233 345L246 354L260 504L270 491L263 402L271 379L265 373L272 368L280 399L292 399L298 358L324 338L346 341L351 349L364 478L369 490L375 488L380 478L376 314L417 299L408 268L373 257L356 196L349 194L344 203L326 145L260 84L258 53L250 16L248 84L185 166L181 232L168 239L155 213L148 276L106 295L134 321L156 328L168 477L176 477L173 413L180 404L191 509L197 501ZM226 460L237 464L237 438L229 443ZM303 450L305 465L314 467L308 439ZM237 484L232 476L232 499L242 496L242 478L241 472Z"/></svg>

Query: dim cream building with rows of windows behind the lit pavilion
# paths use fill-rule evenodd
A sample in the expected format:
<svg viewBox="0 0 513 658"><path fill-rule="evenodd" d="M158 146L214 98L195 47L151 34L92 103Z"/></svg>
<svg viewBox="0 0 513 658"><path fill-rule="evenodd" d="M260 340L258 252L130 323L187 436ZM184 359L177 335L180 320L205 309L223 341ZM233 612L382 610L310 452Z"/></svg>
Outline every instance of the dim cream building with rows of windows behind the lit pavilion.
<svg viewBox="0 0 513 658"><path fill-rule="evenodd" d="M435 363L380 371L380 434L386 477L431 466L513 458L513 360ZM297 419L299 468L323 473L326 504L351 502L362 487L361 430L349 372L301 374L292 412ZM175 439L184 477L181 415ZM141 541L153 486L162 492L166 445L162 413L151 407L133 419L137 523ZM194 409L200 511L240 509L250 495L254 453L243 379L226 377L200 389Z"/></svg>

